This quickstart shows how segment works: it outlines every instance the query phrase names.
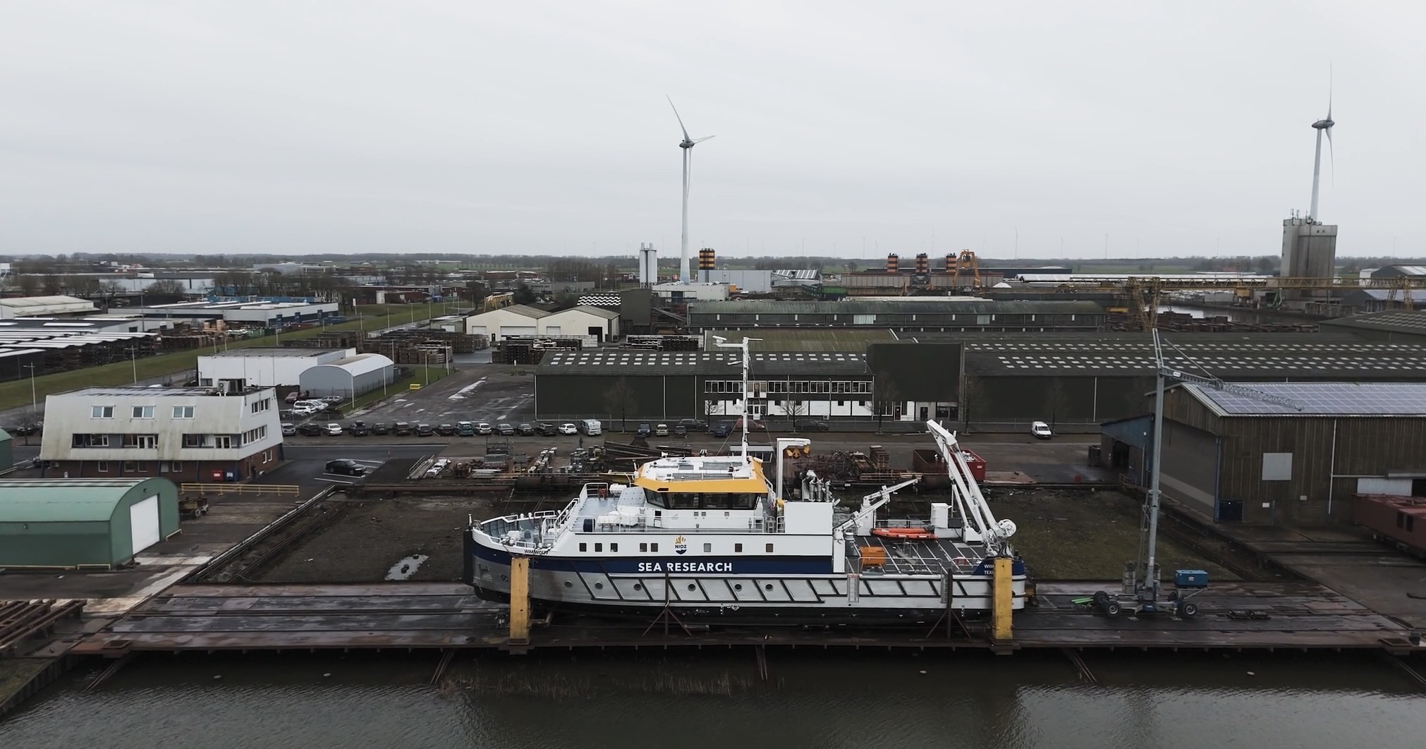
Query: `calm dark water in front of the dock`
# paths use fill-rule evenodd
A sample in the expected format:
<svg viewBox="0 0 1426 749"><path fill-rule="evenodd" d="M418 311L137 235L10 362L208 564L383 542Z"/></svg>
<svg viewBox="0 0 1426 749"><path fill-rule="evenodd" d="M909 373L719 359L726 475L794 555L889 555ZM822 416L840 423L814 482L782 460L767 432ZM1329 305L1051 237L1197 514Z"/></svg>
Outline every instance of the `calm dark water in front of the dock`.
<svg viewBox="0 0 1426 749"><path fill-rule="evenodd" d="M0 748L1426 746L1426 698L1348 658L769 652L155 658L90 695L76 672ZM1249 673L1251 672L1251 673ZM220 676L220 678L214 678Z"/></svg>

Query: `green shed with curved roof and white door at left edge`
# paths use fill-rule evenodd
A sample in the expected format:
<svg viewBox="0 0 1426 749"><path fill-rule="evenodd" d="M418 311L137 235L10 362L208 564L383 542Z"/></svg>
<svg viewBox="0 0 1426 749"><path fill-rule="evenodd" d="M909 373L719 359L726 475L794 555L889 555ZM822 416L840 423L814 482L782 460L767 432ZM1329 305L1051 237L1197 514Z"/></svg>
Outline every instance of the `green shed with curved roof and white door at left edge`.
<svg viewBox="0 0 1426 749"><path fill-rule="evenodd" d="M0 481L0 568L114 568L177 532L167 478Z"/></svg>

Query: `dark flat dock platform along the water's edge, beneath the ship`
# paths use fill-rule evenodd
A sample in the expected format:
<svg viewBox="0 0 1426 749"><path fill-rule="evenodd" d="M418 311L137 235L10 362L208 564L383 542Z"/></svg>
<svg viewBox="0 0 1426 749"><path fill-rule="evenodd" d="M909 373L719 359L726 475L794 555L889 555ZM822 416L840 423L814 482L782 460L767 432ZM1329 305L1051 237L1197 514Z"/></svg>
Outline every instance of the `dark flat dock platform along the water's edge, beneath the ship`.
<svg viewBox="0 0 1426 749"><path fill-rule="evenodd" d="M1199 615L1109 619L1075 598L1107 584L1040 584L1041 605L1015 616L1014 648L1412 651L1392 619L1315 584L1224 584ZM452 649L506 645L505 606L462 584L177 585L71 652ZM974 628L973 628L974 629ZM948 633L950 631L950 633ZM568 618L536 625L530 648L623 646L988 648L958 626L896 629L713 626Z"/></svg>

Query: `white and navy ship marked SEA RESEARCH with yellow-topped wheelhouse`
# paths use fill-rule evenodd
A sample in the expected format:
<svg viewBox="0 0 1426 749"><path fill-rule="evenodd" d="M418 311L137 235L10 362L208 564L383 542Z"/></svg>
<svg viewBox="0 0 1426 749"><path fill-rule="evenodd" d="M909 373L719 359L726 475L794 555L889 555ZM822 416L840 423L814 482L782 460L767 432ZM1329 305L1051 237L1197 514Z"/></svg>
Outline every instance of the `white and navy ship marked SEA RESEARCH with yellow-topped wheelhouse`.
<svg viewBox="0 0 1426 749"><path fill-rule="evenodd" d="M747 341L743 348L747 402ZM995 558L1010 562L1011 602L1025 605L1025 569L1011 521L997 521L955 441L925 424L951 478L950 502L928 516L880 518L904 481L841 506L814 471L784 481L806 438L776 441L773 475L734 455L657 458L627 482L586 484L558 511L472 522L465 576L478 595L509 601L511 559L529 559L539 612L679 622L930 622L992 606Z"/></svg>

